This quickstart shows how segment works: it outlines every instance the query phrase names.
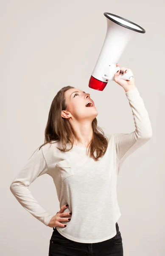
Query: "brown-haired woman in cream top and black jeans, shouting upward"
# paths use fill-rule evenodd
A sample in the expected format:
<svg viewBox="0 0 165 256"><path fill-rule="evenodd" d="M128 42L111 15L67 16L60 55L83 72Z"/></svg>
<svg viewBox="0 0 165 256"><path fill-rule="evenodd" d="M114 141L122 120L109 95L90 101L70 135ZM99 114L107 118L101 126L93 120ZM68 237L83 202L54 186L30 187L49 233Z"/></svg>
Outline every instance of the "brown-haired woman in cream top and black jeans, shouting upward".
<svg viewBox="0 0 165 256"><path fill-rule="evenodd" d="M119 66L116 64L116 66ZM53 99L45 129L45 143L11 183L20 204L53 228L49 256L123 255L117 224L117 175L123 161L152 136L151 123L134 79L115 82L125 90L135 130L104 136L89 93L63 87ZM28 186L48 174L56 186L60 210L51 215L32 196ZM93 253L93 254L92 254Z"/></svg>

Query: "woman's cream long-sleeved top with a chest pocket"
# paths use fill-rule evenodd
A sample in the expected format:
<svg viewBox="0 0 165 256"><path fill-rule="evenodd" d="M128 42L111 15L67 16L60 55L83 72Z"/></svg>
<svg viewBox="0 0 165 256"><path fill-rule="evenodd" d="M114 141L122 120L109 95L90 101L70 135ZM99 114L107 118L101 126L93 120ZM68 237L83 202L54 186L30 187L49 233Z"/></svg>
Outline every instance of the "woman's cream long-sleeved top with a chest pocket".
<svg viewBox="0 0 165 256"><path fill-rule="evenodd" d="M115 224L121 216L116 190L118 172L126 157L152 136L148 112L137 87L125 94L135 130L109 135L106 153L99 161L88 157L85 147L73 145L70 151L61 152L56 148L61 147L60 143L54 141L38 149L11 183L11 192L22 207L48 226L56 213L50 214L39 205L28 186L37 177L50 175L56 186L59 209L68 204L64 212L72 212L70 221L62 221L67 227L56 226L67 239L97 243L116 235Z"/></svg>

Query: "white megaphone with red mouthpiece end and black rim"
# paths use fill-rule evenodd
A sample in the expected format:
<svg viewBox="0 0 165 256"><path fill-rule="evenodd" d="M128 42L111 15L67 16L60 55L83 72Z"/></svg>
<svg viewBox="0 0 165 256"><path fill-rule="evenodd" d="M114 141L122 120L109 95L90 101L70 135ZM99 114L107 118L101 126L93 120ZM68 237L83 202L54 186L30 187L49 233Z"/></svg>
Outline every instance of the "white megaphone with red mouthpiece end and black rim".
<svg viewBox="0 0 165 256"><path fill-rule="evenodd" d="M89 79L89 87L102 91L109 80L114 81L114 74L120 67L116 67L121 54L132 36L139 33L145 33L141 26L126 20L115 14L104 12L107 20L106 37L103 43L95 68ZM120 79L131 80L133 74L131 70L125 74L119 75Z"/></svg>

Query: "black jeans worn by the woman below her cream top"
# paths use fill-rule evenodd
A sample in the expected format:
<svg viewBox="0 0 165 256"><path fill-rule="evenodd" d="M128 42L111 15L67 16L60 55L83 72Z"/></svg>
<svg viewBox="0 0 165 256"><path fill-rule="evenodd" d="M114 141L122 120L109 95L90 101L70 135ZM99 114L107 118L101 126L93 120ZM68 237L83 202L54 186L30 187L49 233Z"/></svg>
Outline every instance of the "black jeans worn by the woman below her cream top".
<svg viewBox="0 0 165 256"><path fill-rule="evenodd" d="M106 241L88 244L72 241L53 227L49 256L123 256L123 242L116 222L117 234Z"/></svg>

